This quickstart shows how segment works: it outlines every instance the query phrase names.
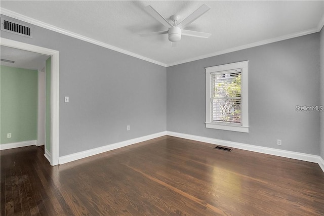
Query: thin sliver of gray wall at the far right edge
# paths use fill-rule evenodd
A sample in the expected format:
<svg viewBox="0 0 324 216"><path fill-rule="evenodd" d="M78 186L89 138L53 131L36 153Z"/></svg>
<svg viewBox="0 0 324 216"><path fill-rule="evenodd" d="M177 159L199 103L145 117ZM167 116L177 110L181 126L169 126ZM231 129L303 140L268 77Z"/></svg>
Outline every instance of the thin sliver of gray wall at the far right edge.
<svg viewBox="0 0 324 216"><path fill-rule="evenodd" d="M320 31L320 105L324 106L324 28ZM320 112L320 156L324 160L324 111Z"/></svg>

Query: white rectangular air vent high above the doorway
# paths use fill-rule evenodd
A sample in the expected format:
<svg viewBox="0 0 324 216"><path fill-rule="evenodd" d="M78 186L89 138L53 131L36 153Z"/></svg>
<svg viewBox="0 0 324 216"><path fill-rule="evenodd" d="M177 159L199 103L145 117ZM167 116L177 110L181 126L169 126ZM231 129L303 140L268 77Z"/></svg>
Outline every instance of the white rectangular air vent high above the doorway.
<svg viewBox="0 0 324 216"><path fill-rule="evenodd" d="M31 27L6 18L1 18L1 30L26 37L32 37Z"/></svg>

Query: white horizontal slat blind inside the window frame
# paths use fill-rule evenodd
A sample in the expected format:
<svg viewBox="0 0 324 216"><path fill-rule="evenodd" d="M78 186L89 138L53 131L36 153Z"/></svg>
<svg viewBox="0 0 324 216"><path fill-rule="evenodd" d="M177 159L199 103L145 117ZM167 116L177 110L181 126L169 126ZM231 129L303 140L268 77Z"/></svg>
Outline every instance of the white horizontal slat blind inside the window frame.
<svg viewBox="0 0 324 216"><path fill-rule="evenodd" d="M241 73L240 68L211 73L213 122L241 124Z"/></svg>

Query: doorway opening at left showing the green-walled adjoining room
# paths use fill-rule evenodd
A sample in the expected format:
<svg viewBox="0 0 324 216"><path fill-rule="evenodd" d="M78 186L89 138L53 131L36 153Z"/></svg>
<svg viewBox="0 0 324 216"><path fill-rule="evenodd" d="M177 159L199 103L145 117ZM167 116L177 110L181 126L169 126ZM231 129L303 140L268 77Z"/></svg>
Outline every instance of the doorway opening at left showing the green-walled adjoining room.
<svg viewBox="0 0 324 216"><path fill-rule="evenodd" d="M45 142L50 137L45 135L45 116L50 114L50 104L45 104L51 91L45 88L46 69L48 76L51 72L46 62L50 58L1 45L1 149L46 145L45 155L50 158L50 141Z"/></svg>

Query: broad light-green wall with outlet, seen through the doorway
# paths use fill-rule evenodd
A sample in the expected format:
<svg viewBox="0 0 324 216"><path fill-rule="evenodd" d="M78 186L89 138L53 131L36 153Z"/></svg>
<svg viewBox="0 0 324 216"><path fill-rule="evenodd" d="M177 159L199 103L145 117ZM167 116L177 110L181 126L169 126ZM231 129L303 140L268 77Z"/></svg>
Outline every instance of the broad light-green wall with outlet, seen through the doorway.
<svg viewBox="0 0 324 216"><path fill-rule="evenodd" d="M38 71L1 66L0 77L0 144L37 140Z"/></svg>

